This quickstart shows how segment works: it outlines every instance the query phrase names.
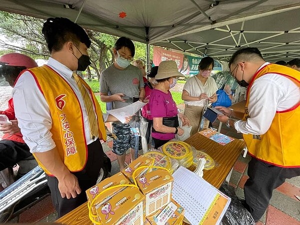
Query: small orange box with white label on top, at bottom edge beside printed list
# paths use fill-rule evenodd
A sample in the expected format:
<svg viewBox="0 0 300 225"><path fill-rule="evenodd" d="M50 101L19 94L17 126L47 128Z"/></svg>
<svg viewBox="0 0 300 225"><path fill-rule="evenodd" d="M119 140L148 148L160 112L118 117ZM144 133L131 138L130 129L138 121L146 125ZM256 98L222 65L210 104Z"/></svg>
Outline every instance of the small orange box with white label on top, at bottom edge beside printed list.
<svg viewBox="0 0 300 225"><path fill-rule="evenodd" d="M181 225L184 218L184 208L174 199L171 199L171 202L163 209L159 209L156 213L146 218L151 225Z"/></svg>

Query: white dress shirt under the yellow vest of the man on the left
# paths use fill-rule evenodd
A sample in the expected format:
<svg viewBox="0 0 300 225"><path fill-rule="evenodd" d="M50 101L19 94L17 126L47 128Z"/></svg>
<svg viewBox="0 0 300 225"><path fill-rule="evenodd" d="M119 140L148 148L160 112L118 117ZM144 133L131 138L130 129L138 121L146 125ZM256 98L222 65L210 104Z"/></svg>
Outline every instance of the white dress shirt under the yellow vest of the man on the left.
<svg viewBox="0 0 300 225"><path fill-rule="evenodd" d="M94 140L90 137L83 98L72 77L73 71L51 57L47 65L59 73L75 92L82 109L86 144L93 142ZM50 109L30 72L25 71L19 77L12 89L12 97L18 126L21 129L25 143L30 148L30 152L44 152L54 148L55 143L50 132L52 127Z"/></svg>

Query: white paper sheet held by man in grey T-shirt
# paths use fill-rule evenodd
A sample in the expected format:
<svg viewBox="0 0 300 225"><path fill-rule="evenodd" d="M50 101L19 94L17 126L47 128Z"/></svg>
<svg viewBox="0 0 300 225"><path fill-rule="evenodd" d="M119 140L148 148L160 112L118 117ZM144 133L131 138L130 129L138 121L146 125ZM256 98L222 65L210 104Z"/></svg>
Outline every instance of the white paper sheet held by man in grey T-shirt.
<svg viewBox="0 0 300 225"><path fill-rule="evenodd" d="M120 120L120 122L124 123L126 121L125 117L128 117L129 115L134 115L145 104L147 103L135 101L134 103L129 104L125 107L108 110L106 111L106 113L113 115L118 120Z"/></svg>

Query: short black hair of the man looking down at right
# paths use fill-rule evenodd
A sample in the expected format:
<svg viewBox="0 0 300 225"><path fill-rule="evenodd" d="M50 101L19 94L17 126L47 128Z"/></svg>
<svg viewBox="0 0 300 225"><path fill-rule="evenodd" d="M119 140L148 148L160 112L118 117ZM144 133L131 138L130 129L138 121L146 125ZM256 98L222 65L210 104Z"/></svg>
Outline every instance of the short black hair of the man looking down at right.
<svg viewBox="0 0 300 225"><path fill-rule="evenodd" d="M263 57L257 47L240 48L239 50L235 51L229 59L229 68L230 65L236 61L251 61L258 58L263 60Z"/></svg>

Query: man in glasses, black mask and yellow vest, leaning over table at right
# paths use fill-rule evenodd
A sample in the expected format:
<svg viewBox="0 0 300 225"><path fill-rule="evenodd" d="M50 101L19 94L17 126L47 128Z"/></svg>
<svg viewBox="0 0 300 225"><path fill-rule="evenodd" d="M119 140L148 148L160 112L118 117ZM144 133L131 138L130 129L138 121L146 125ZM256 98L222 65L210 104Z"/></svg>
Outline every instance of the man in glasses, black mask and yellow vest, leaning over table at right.
<svg viewBox="0 0 300 225"><path fill-rule="evenodd" d="M238 84L248 88L244 119L228 118L231 111L221 106L216 108L226 115L218 119L243 134L251 155L245 207L258 221L273 189L300 175L300 72L265 62L255 47L236 51L229 68Z"/></svg>

